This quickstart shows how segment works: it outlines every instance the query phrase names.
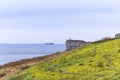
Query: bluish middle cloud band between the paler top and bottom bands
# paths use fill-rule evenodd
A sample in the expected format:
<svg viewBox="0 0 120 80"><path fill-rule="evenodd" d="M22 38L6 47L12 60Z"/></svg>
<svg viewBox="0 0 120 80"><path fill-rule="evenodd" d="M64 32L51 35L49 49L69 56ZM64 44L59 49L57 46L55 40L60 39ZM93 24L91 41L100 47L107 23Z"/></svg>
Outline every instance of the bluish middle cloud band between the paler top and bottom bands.
<svg viewBox="0 0 120 80"><path fill-rule="evenodd" d="M0 27L17 29L112 27L120 26L119 13L56 13L39 16L6 17L0 19Z"/></svg>

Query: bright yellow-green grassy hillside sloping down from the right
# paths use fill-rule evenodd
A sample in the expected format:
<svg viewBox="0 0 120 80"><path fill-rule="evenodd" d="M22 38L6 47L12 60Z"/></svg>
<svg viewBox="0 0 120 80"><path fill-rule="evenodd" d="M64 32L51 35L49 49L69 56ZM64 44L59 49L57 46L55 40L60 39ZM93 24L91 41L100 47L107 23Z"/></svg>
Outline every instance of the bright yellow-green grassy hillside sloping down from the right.
<svg viewBox="0 0 120 80"><path fill-rule="evenodd" d="M88 44L37 65L10 80L112 80L120 79L120 39Z"/></svg>

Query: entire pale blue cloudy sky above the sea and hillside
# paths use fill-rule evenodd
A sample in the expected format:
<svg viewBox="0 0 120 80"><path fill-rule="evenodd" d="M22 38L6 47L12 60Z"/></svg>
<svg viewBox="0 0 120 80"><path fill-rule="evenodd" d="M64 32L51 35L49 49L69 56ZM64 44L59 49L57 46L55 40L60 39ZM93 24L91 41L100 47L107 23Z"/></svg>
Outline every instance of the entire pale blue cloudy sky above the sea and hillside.
<svg viewBox="0 0 120 80"><path fill-rule="evenodd" d="M114 37L120 0L0 0L0 43Z"/></svg>

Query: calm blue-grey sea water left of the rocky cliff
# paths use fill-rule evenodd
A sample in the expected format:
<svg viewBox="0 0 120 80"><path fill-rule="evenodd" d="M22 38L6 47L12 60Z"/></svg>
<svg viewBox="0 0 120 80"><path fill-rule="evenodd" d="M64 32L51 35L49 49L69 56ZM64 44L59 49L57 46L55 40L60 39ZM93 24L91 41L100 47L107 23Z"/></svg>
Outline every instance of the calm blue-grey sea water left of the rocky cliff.
<svg viewBox="0 0 120 80"><path fill-rule="evenodd" d="M0 44L0 65L26 58L64 51L64 44Z"/></svg>

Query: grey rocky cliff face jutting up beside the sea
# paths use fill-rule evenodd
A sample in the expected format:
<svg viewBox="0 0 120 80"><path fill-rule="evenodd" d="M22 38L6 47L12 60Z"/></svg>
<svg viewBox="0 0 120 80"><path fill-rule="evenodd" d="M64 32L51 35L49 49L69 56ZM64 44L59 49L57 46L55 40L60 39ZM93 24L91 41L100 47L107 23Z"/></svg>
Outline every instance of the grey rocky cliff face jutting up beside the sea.
<svg viewBox="0 0 120 80"><path fill-rule="evenodd" d="M82 40L67 40L66 41L66 50L72 50L78 47L82 47L88 42Z"/></svg>

